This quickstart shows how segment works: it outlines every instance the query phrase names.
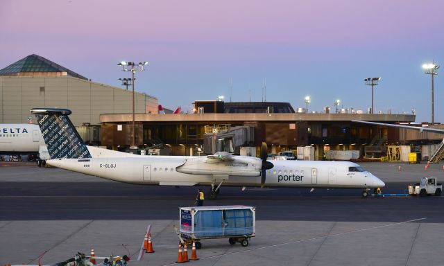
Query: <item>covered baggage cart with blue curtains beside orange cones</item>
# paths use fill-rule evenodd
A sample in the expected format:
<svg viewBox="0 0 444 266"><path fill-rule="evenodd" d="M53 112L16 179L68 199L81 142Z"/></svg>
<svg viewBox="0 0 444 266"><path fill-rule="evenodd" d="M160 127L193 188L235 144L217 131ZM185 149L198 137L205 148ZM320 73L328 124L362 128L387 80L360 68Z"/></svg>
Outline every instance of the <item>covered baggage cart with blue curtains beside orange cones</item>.
<svg viewBox="0 0 444 266"><path fill-rule="evenodd" d="M179 210L179 238L196 249L202 247L200 240L228 238L230 245L240 242L248 246L255 236L256 209L252 206L192 206Z"/></svg>

